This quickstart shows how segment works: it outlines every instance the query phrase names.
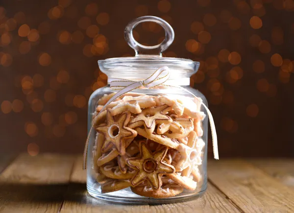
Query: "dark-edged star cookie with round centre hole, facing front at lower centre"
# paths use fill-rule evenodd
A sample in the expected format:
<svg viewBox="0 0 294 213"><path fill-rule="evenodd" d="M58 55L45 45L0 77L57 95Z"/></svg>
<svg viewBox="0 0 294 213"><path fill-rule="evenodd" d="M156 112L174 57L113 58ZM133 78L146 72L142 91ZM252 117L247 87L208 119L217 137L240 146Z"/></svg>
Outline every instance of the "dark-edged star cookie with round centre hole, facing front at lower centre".
<svg viewBox="0 0 294 213"><path fill-rule="evenodd" d="M163 161L168 148L151 153L144 142L140 142L140 157L128 158L126 164L137 171L131 179L133 187L147 180L152 189L160 189L162 185L161 177L164 174L172 174L175 169Z"/></svg>

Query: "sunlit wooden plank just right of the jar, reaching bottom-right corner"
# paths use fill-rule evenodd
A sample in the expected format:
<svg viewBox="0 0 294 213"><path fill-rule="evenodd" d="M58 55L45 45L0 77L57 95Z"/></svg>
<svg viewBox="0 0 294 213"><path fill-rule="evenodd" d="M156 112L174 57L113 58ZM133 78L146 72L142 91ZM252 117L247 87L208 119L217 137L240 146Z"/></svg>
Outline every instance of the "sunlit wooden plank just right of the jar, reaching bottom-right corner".
<svg viewBox="0 0 294 213"><path fill-rule="evenodd" d="M245 161L210 161L208 177L245 213L294 212L294 190Z"/></svg>

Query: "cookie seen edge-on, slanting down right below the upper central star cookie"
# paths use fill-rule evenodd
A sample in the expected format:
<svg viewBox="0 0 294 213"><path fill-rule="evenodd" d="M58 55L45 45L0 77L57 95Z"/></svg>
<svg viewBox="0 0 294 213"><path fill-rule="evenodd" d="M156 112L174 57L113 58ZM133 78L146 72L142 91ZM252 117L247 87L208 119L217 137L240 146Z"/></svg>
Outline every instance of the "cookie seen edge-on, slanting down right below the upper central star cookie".
<svg viewBox="0 0 294 213"><path fill-rule="evenodd" d="M177 147L179 145L178 142L166 137L165 135L158 135L155 132L153 134L149 134L149 133L147 133L147 131L145 129L142 129L140 127L135 128L135 131L137 131L137 133L139 135L141 135L147 139L158 142L162 145L165 145L165 146L173 148L173 149L177 149Z"/></svg>

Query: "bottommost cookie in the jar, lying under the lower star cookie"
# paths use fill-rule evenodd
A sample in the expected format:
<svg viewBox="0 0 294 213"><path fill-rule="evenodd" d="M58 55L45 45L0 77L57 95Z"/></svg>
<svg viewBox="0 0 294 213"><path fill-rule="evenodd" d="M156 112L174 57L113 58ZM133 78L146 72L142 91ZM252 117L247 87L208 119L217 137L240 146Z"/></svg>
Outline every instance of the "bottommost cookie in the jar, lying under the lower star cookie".
<svg viewBox="0 0 294 213"><path fill-rule="evenodd" d="M131 188L131 190L138 195L154 198L173 197L183 192L183 188L175 184L161 187L158 190L153 190L152 188L147 186L138 186Z"/></svg>

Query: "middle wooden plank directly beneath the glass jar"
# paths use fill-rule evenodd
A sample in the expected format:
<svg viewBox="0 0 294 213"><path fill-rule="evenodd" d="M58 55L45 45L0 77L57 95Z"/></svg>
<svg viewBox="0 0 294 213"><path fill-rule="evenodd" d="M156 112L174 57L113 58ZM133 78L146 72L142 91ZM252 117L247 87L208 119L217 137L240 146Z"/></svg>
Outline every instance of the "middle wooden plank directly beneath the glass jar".
<svg viewBox="0 0 294 213"><path fill-rule="evenodd" d="M86 189L86 172L82 170L82 157L77 158L71 176L71 184L61 213L191 213L228 212L239 213L235 205L218 189L208 183L206 193L192 201L163 205L114 205L91 197ZM73 183L75 182L75 183Z"/></svg>

